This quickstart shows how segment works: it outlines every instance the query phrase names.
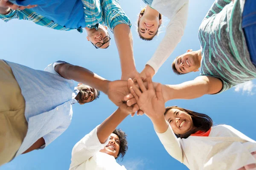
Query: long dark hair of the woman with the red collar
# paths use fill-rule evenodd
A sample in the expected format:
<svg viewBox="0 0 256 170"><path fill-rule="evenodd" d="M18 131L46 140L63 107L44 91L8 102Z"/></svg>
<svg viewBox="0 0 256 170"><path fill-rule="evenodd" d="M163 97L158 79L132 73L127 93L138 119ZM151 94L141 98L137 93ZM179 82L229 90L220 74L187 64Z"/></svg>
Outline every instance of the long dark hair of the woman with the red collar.
<svg viewBox="0 0 256 170"><path fill-rule="evenodd" d="M207 116L206 114L197 113L194 111L190 111L188 109L180 108L178 106L169 106L169 107L166 107L166 111L165 111L164 115L166 115L166 113L171 109L178 109L180 111L188 113L191 116L193 124L194 124L194 128L192 130L189 130L185 134L180 135L180 134L175 133L177 138L185 138L186 139L191 134L197 132L198 130L207 132L212 127L212 119L209 116Z"/></svg>

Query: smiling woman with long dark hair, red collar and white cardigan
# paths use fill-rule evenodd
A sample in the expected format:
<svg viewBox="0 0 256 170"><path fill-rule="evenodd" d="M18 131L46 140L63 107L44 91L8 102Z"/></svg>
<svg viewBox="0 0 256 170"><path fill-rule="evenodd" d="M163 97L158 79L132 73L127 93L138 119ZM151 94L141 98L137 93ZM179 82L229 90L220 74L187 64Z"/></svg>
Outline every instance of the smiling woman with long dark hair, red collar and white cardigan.
<svg viewBox="0 0 256 170"><path fill-rule="evenodd" d="M136 79L141 90L129 79L131 93L173 158L190 170L256 168L256 141L231 126L212 126L212 119L205 114L177 106L165 109L160 84L154 88L147 75L146 88L140 77Z"/></svg>

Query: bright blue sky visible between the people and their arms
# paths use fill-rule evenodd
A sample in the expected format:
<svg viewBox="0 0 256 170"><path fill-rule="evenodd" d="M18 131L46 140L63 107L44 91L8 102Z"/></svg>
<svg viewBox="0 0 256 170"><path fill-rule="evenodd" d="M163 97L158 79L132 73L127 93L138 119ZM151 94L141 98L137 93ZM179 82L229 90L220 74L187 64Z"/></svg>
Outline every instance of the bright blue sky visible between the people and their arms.
<svg viewBox="0 0 256 170"><path fill-rule="evenodd" d="M139 39L136 23L140 9L145 6L142 0L119 0L123 10L130 17L134 38L134 57L138 71L154 54L164 36L160 35L150 42ZM163 64L153 80L163 84L178 84L192 80L198 72L177 76L172 73L171 64L175 57L187 49L198 50L198 28L214 0L190 0L189 18L181 42ZM164 25L168 19L164 18ZM111 37L113 37L113 34ZM86 32L56 31L38 26L29 21L0 21L0 51L2 59L17 62L43 70L48 64L64 60L80 65L100 76L116 80L121 77L119 56L114 39L108 49L95 49L86 40ZM247 82L231 88L219 95L205 95L192 100L173 100L166 106L178 105L212 117L214 124L227 124L235 127L252 139L256 139L256 81ZM116 106L105 94L94 102L73 105L73 119L70 127L44 150L36 150L18 156L15 160L0 167L0 170L67 170L70 165L73 146L96 125L105 120ZM120 125L128 134L129 149L123 161L128 170L186 170L186 166L173 159L160 143L151 121L146 116L128 116Z"/></svg>

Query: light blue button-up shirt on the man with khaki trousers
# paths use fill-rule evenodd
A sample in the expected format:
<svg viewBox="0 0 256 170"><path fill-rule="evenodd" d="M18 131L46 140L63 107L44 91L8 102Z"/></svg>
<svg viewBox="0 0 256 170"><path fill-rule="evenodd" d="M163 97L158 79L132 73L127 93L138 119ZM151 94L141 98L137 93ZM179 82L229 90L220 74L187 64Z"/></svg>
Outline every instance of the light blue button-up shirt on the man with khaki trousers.
<svg viewBox="0 0 256 170"><path fill-rule="evenodd" d="M77 102L73 92L77 94L78 90L74 91L72 80L64 79L54 70L55 65L65 62L52 63L45 71L5 62L12 68L26 103L28 131L18 156L41 137L47 146L67 129L73 115L72 104Z"/></svg>

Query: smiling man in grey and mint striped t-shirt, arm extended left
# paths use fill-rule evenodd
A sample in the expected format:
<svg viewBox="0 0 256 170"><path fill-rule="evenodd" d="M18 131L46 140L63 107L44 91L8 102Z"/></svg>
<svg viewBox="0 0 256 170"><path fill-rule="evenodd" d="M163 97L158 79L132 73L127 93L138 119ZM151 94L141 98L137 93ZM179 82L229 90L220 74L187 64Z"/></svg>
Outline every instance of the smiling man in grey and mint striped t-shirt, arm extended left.
<svg viewBox="0 0 256 170"><path fill-rule="evenodd" d="M172 69L182 75L199 71L200 76L180 85L170 85L177 96L193 99L219 94L256 78L256 1L215 0L201 23L201 49L188 50L174 60Z"/></svg>

